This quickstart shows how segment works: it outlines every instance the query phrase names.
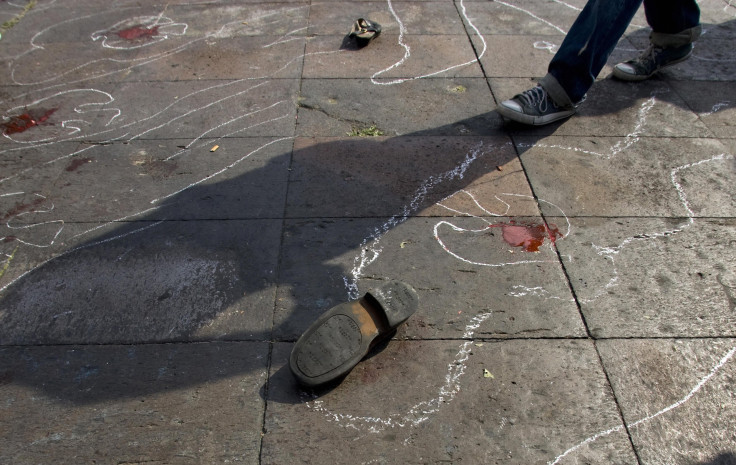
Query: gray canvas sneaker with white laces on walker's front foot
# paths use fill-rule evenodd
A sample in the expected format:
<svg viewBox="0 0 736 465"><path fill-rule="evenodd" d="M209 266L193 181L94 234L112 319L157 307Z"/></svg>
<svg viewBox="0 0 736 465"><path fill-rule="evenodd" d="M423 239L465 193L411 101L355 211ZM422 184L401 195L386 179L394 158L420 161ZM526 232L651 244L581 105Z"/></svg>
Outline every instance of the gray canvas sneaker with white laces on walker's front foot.
<svg viewBox="0 0 736 465"><path fill-rule="evenodd" d="M577 111L576 106L560 107L544 87L537 85L512 99L501 102L498 112L506 118L523 124L542 126L568 118Z"/></svg>

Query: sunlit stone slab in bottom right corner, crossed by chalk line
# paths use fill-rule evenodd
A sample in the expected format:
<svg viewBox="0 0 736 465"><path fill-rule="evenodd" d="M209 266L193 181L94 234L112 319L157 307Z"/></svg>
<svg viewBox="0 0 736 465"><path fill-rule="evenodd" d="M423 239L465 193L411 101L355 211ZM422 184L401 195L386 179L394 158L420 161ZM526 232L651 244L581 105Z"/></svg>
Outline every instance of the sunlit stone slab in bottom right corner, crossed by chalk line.
<svg viewBox="0 0 736 465"><path fill-rule="evenodd" d="M637 454L644 464L731 464L733 339L599 343Z"/></svg>

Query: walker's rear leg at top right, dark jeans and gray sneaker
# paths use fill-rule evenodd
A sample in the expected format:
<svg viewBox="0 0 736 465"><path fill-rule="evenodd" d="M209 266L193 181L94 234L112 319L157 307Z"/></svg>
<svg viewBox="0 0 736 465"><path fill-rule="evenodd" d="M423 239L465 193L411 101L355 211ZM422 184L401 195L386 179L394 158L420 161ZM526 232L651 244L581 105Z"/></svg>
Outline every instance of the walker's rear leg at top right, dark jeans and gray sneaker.
<svg viewBox="0 0 736 465"><path fill-rule="evenodd" d="M643 81L687 60L700 37L700 8L695 0L644 0L644 11L652 27L650 46L638 58L613 68L619 79Z"/></svg>

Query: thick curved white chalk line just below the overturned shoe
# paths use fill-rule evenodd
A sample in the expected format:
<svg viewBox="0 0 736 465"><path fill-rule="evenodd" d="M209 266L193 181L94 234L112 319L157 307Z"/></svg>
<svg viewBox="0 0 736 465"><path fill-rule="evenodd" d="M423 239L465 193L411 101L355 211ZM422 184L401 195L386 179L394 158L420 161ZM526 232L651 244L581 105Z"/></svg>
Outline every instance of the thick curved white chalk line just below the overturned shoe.
<svg viewBox="0 0 736 465"><path fill-rule="evenodd" d="M440 386L436 396L430 400L421 401L406 412L392 413L383 417L370 417L360 415L350 415L344 413L334 413L325 406L325 401L313 400L306 402L307 408L321 413L330 422L337 423L342 428L362 429L366 428L371 433L378 433L387 428L404 428L418 426L439 412L439 410L448 405L455 399L460 392L460 379L467 369L466 362L470 358L471 346L473 344L473 335L480 325L490 318L492 312L481 313L473 317L470 323L465 327L463 339L466 340L458 351L453 361L447 364L447 373L445 382Z"/></svg>

